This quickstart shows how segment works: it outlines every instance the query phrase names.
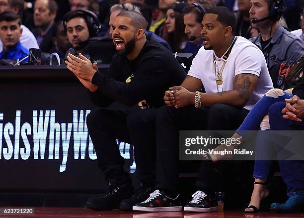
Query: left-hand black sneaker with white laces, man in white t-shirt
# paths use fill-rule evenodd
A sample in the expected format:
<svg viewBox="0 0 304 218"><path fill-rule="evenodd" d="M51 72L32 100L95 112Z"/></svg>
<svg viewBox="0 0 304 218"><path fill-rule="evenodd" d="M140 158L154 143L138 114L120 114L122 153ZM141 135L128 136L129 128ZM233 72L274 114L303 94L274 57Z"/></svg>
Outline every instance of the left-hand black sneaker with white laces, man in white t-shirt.
<svg viewBox="0 0 304 218"><path fill-rule="evenodd" d="M146 211L146 212L174 212L182 211L183 207L177 195L176 198L169 198L163 191L156 190L150 197L133 206L133 211Z"/></svg>

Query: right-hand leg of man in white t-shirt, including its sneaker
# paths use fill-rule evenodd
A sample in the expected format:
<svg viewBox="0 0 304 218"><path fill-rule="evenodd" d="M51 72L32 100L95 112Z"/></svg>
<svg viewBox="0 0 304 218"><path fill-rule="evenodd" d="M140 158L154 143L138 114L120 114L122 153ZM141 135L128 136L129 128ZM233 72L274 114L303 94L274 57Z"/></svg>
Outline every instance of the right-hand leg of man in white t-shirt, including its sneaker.
<svg viewBox="0 0 304 218"><path fill-rule="evenodd" d="M246 117L248 110L235 108L229 105L216 104L209 109L208 130L231 130L236 129ZM184 208L192 212L213 212L218 211L218 204L215 199L215 191L218 189L219 174L226 168L223 162L212 164L202 161L199 177L196 182L198 191L193 195ZM216 169L215 169L216 167Z"/></svg>

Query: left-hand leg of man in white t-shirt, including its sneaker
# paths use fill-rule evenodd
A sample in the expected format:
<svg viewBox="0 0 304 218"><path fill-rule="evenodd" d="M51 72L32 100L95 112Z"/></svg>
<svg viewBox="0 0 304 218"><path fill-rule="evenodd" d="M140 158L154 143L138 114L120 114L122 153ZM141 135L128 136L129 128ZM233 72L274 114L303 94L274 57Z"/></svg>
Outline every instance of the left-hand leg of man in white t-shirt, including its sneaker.
<svg viewBox="0 0 304 218"><path fill-rule="evenodd" d="M179 130L205 129L207 109L193 106L174 108L163 106L156 118L156 191L137 211L181 211L178 192Z"/></svg>

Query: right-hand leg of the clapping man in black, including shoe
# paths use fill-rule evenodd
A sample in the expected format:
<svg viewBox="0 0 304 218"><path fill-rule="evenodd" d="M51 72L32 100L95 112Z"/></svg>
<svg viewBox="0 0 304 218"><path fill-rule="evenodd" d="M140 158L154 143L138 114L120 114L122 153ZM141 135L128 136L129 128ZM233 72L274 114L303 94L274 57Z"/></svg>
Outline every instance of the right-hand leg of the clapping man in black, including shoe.
<svg viewBox="0 0 304 218"><path fill-rule="evenodd" d="M120 209L132 211L135 204L148 199L155 188L156 140L155 122L157 109L139 109L128 115L128 131L134 147L136 173L140 188L130 199L122 200Z"/></svg>

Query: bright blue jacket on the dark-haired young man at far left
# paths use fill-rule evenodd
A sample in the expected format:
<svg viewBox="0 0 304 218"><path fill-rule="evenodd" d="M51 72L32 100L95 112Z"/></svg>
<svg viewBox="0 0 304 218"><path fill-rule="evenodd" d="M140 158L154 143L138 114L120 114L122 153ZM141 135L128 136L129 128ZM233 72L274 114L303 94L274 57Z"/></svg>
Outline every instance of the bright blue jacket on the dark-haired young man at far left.
<svg viewBox="0 0 304 218"><path fill-rule="evenodd" d="M13 47L8 48L7 51L2 50L0 53L0 59L9 59L17 61L17 59L21 60L25 56L29 55L29 51L24 48L20 41ZM22 62L27 62L28 58Z"/></svg>

